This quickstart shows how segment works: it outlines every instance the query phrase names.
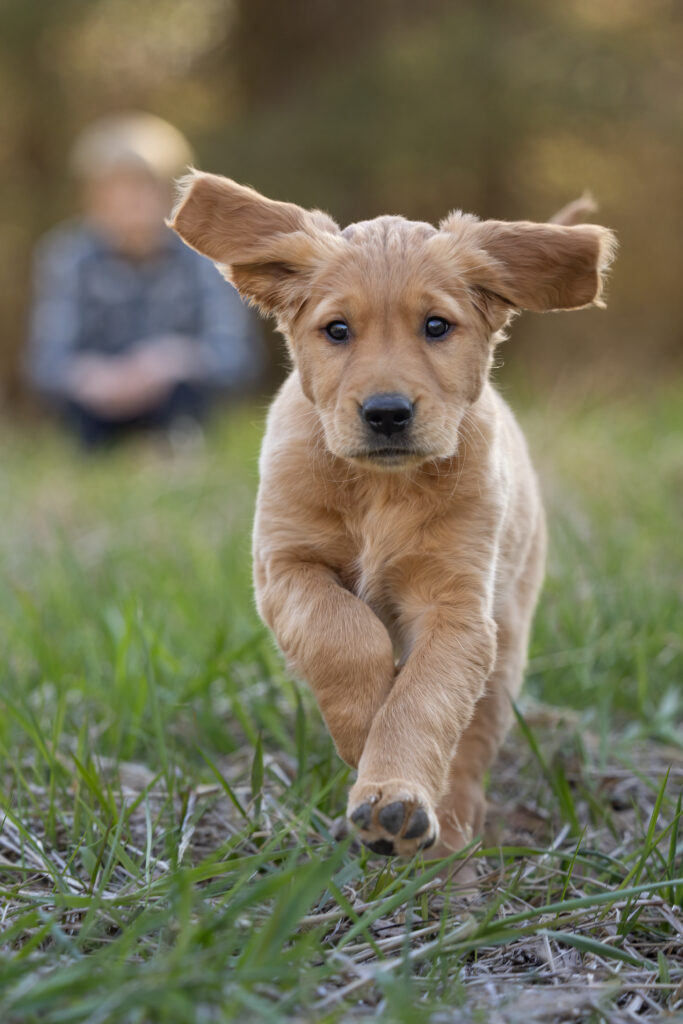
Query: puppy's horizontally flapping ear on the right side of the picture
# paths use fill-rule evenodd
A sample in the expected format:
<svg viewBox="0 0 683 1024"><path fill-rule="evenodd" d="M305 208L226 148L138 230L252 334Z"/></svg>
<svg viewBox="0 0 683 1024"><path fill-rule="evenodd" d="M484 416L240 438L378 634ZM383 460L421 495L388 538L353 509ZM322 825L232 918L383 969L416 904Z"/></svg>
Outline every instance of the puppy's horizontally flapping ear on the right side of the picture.
<svg viewBox="0 0 683 1024"><path fill-rule="evenodd" d="M606 227L478 221L461 213L451 214L439 226L479 251L467 275L510 309L547 312L604 305L604 274L616 250L616 239Z"/></svg>

